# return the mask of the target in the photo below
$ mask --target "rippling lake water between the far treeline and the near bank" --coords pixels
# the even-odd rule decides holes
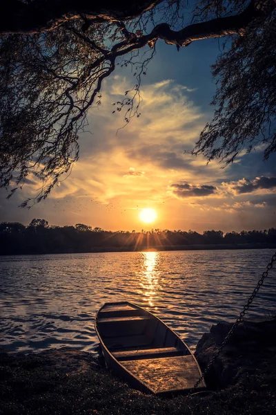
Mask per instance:
[[[195,349],[219,320],[234,321],[273,250],[112,252],[0,257],[0,347],[71,346],[97,353],[94,316],[130,300],[161,317]],[[275,311],[270,271],[248,316]]]

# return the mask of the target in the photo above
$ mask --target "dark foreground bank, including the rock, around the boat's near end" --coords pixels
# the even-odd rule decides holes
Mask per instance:
[[[232,324],[205,333],[195,355],[208,365]],[[0,414],[271,415],[276,412],[276,319],[242,322],[205,378],[207,391],[159,397],[128,387],[91,353],[70,347],[41,353],[0,350]]]

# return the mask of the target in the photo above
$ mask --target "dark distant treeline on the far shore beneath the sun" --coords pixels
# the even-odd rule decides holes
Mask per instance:
[[[206,230],[160,230],[111,232],[92,229],[83,223],[75,226],[50,226],[45,219],[33,219],[25,226],[17,222],[0,223],[0,254],[55,254],[71,252],[134,251],[149,248],[210,249],[272,247],[276,228],[227,232]]]

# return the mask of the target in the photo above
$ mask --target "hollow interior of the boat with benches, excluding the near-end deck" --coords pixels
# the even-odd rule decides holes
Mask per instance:
[[[184,343],[163,322],[128,302],[103,306],[97,316],[97,327],[117,360],[190,355]]]

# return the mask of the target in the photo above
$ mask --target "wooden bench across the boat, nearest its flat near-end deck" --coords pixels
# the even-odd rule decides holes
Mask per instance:
[[[185,351],[177,349],[177,347],[159,347],[158,349],[136,349],[115,351],[112,355],[117,360],[139,360],[168,358],[174,356],[184,356]]]

